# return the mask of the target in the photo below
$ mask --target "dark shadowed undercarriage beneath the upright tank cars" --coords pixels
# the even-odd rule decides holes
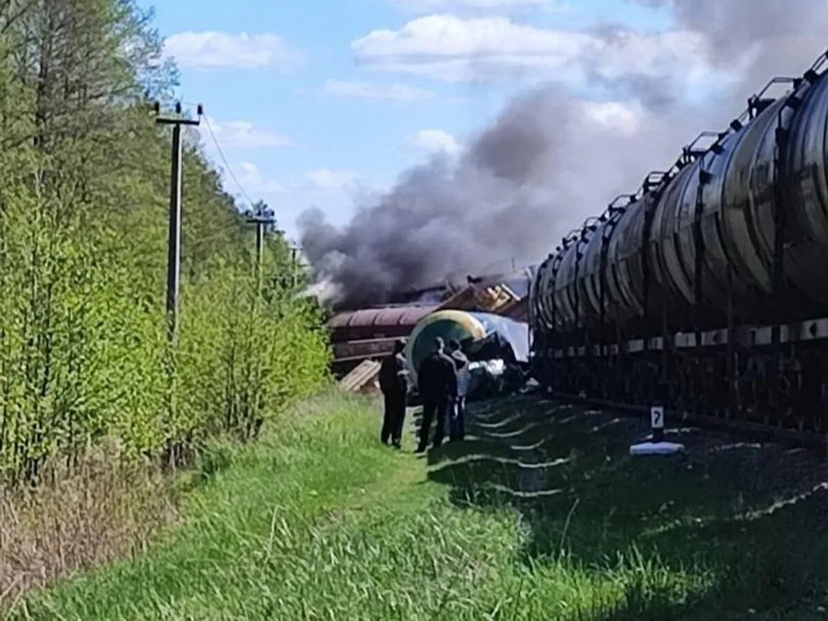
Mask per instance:
[[[580,347],[535,338],[535,376],[556,394],[658,404],[681,418],[798,431],[809,440],[828,434],[828,318]]]

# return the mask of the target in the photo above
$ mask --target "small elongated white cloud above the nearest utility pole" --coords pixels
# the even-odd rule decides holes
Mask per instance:
[[[287,69],[301,60],[301,54],[280,36],[229,32],[181,32],[164,43],[166,54],[181,67]]]

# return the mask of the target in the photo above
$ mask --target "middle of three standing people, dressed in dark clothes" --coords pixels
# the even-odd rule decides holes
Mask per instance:
[[[455,363],[444,353],[445,343],[438,336],[434,342],[434,351],[422,361],[417,379],[422,397],[422,424],[420,427],[420,444],[417,453],[422,453],[428,446],[431,421],[437,417],[434,431],[434,448],[443,443],[445,436],[445,414],[452,397],[457,393],[457,369]]]

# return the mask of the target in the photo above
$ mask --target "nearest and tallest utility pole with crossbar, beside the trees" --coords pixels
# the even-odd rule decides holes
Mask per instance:
[[[173,343],[178,334],[178,291],[181,286],[181,126],[199,125],[204,108],[199,103],[198,118],[181,116],[181,103],[176,103],[174,117],[161,117],[161,104],[156,102],[156,123],[172,125],[172,166],[170,173],[170,235],[167,242],[166,316],[167,337]]]

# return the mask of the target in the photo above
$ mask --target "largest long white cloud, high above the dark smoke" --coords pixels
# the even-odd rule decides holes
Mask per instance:
[[[527,26],[508,17],[430,15],[396,31],[372,31],[351,47],[368,68],[453,82],[713,77],[705,37],[686,31],[599,34]]]

